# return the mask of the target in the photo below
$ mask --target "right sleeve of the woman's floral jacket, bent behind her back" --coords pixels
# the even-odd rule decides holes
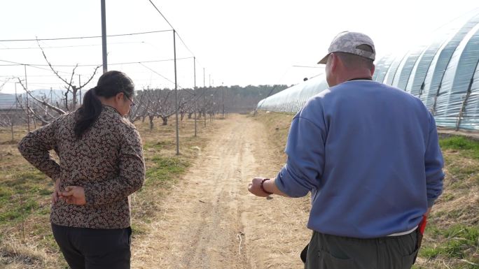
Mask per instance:
[[[118,177],[84,186],[88,205],[120,201],[141,188],[145,178],[143,147],[137,129],[127,128],[120,136]]]

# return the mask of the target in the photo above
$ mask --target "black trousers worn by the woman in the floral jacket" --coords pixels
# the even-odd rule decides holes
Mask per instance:
[[[132,229],[58,226],[52,231],[71,269],[130,269]]]

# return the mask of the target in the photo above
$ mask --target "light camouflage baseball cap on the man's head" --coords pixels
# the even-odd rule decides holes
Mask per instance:
[[[361,50],[359,45],[368,45],[373,49],[373,52],[367,50]],[[376,56],[376,50],[374,48],[373,40],[366,36],[366,34],[358,33],[354,31],[343,31],[333,39],[331,45],[328,48],[328,54],[318,62],[318,64],[326,64],[329,54],[333,52],[347,52],[356,54],[361,57],[372,59],[374,61]]]

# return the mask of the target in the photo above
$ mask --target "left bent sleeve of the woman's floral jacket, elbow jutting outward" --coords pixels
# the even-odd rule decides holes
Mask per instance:
[[[20,154],[53,181],[60,177],[60,165],[53,159],[50,150],[57,147],[56,133],[61,119],[29,132],[18,143]]]

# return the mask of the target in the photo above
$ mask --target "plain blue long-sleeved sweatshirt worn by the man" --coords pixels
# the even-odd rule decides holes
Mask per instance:
[[[312,191],[308,228],[377,238],[410,231],[443,189],[436,122],[407,92],[370,80],[313,96],[293,118],[276,178],[291,197]]]

